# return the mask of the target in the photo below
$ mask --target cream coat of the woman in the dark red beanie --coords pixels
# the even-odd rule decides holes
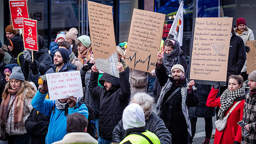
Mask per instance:
[[[237,32],[237,27],[234,30],[235,30],[236,35],[240,36],[243,39],[245,46],[247,44],[247,41],[254,41],[254,35],[252,33],[252,30],[249,29],[248,27],[246,27],[246,29],[240,35]],[[247,61],[245,60],[244,67],[243,67],[241,72],[246,72],[247,71],[246,66],[247,66]]]

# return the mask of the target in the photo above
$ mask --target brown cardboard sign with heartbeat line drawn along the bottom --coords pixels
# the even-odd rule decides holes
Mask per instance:
[[[125,62],[130,68],[151,72],[160,49],[165,14],[133,9]]]

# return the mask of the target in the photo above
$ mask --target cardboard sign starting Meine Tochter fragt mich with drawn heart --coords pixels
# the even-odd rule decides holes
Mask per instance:
[[[188,79],[226,85],[233,18],[196,18],[193,23]]]

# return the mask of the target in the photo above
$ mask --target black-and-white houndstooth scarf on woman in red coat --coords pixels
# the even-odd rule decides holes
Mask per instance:
[[[241,87],[236,91],[229,91],[229,89],[227,88],[222,95],[220,96],[220,110],[218,113],[218,117],[220,120],[222,120],[224,113],[226,110],[228,110],[230,108],[230,106],[234,103],[234,101],[237,98],[243,97],[245,96],[245,87]]]

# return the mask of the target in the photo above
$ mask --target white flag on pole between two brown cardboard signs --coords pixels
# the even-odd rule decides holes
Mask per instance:
[[[172,22],[172,26],[169,31],[169,34],[174,36],[173,39],[177,40],[180,43],[180,46],[182,46],[183,38],[183,5],[184,2],[181,1],[175,19]]]

